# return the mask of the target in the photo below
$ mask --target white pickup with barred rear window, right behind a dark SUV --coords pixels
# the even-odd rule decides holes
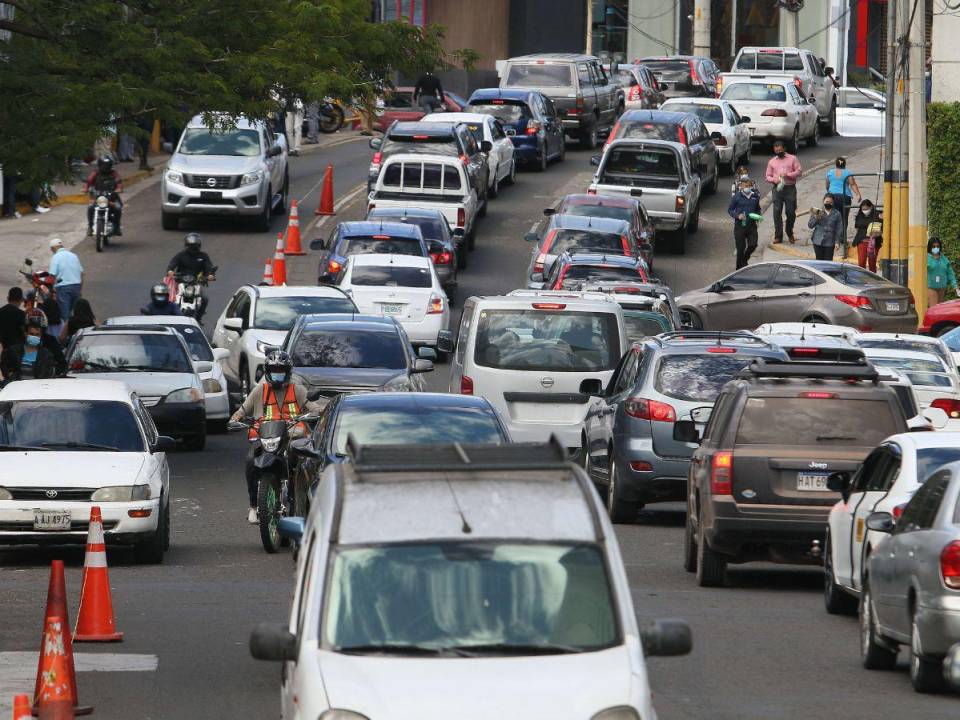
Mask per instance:
[[[404,153],[391,155],[370,193],[367,212],[374,208],[433,208],[463,235],[468,250],[476,245],[480,198],[460,158]]]

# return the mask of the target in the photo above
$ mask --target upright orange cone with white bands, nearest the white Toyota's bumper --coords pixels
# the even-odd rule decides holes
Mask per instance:
[[[87,531],[87,554],[83,559],[83,586],[80,589],[80,610],[73,630],[74,642],[116,642],[123,640],[113,620],[110,578],[107,574],[107,548],[103,542],[103,519],[100,508],[90,508],[90,529]]]

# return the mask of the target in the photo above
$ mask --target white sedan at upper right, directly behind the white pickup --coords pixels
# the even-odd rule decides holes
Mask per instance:
[[[817,106],[807,102],[792,82],[744,75],[727,83],[720,99],[750,118],[747,126],[754,140],[783,140],[792,153],[801,140],[811,147],[820,142]]]

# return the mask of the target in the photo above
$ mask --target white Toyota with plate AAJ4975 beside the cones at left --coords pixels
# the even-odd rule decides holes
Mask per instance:
[[[107,543],[161,562],[172,447],[126,383],[10,383],[0,390],[0,544],[82,544],[96,505]]]

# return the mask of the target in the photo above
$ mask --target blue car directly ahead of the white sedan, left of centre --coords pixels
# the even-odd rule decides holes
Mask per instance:
[[[321,285],[336,282],[350,255],[430,255],[418,225],[366,220],[338,223],[328,238],[312,240],[310,249],[322,251],[317,268]]]

